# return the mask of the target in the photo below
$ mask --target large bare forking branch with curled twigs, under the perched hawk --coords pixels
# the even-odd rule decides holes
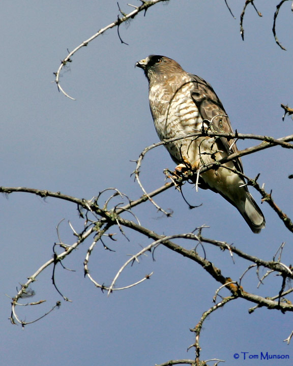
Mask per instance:
[[[265,148],[271,148],[273,146],[281,146],[283,148],[292,148],[293,144],[291,141],[293,141],[293,135],[285,136],[282,138],[273,138],[268,136],[258,136],[258,135],[248,135],[248,134],[224,134],[224,133],[212,133],[209,131],[203,131],[194,133],[192,135],[187,135],[185,137],[180,138],[190,138],[191,136],[194,136],[195,138],[197,136],[200,136],[200,134],[204,133],[206,136],[214,136],[214,137],[226,137],[230,139],[254,139],[261,141],[260,144],[246,148],[244,150],[239,151],[238,153],[231,154],[225,159],[221,159],[220,161],[215,161],[214,164],[210,164],[209,166],[205,166],[202,168],[203,171],[207,171],[208,169],[212,169],[216,165],[224,166],[223,163],[228,160],[236,159],[240,156],[245,156],[251,153],[254,153],[256,151],[265,149]],[[179,138],[177,138],[179,139]],[[157,144],[153,144],[147,148],[145,148],[141,155],[139,156],[138,160],[136,161],[136,169],[135,169],[135,176],[136,179],[138,178],[139,171],[141,168],[142,160],[144,159],[145,155],[150,151],[151,149],[158,147],[160,145],[167,144],[171,141],[174,141],[175,139],[165,140],[162,142],[159,142]],[[189,172],[191,175],[194,172]],[[262,195],[263,201],[266,201],[269,203],[269,205],[277,212],[279,218],[282,219],[282,221],[285,223],[286,227],[293,232],[293,225],[291,220],[283,213],[283,211],[275,204],[274,200],[272,199],[271,193],[267,193],[263,188],[261,188],[257,183],[257,178],[251,179],[247,176],[245,176],[241,172],[237,172],[240,174],[244,179],[246,179],[247,184],[252,185],[260,194]],[[34,290],[31,290],[31,286],[33,285],[33,282],[36,281],[37,277],[44,271],[45,268],[52,266],[52,282],[53,285],[56,288],[56,291],[62,295],[63,299],[65,301],[70,301],[65,295],[61,293],[61,291],[58,289],[55,281],[55,275],[54,270],[55,267],[58,264],[61,264],[64,269],[66,269],[64,262],[66,258],[75,251],[78,246],[84,242],[86,239],[89,239],[91,236],[93,236],[92,243],[87,250],[87,253],[84,258],[84,276],[89,278],[90,281],[94,283],[94,285],[97,288],[100,288],[102,291],[106,291],[108,294],[110,294],[112,291],[116,290],[123,290],[128,289],[133,286],[136,286],[138,284],[141,284],[145,280],[149,280],[153,274],[153,272],[149,273],[148,275],[145,275],[141,279],[135,281],[134,283],[122,287],[116,287],[116,283],[118,282],[121,273],[124,271],[124,269],[129,265],[133,264],[134,262],[139,263],[139,258],[142,255],[145,255],[147,252],[150,252],[154,254],[154,250],[158,248],[159,246],[165,246],[166,248],[172,250],[175,253],[178,253],[181,256],[184,256],[186,258],[189,258],[190,260],[196,262],[198,265],[201,266],[201,268],[207,272],[216,282],[220,284],[220,287],[216,291],[216,295],[214,296],[214,302],[216,302],[216,299],[218,296],[220,296],[221,300],[215,305],[204,312],[202,314],[202,317],[197,324],[197,326],[193,329],[196,333],[196,339],[194,343],[195,347],[195,360],[174,360],[171,364],[180,364],[181,363],[190,363],[190,364],[206,364],[205,362],[208,361],[200,361],[200,345],[199,345],[199,337],[200,337],[200,331],[202,329],[203,322],[207,319],[208,315],[217,310],[218,308],[225,305],[226,302],[230,300],[235,300],[237,298],[242,298],[245,300],[248,300],[249,302],[253,302],[255,304],[254,308],[251,308],[249,312],[253,312],[257,308],[265,307],[270,310],[278,310],[282,313],[285,313],[287,311],[292,312],[293,311],[293,304],[284,296],[289,295],[293,290],[285,290],[285,282],[287,279],[293,278],[293,273],[291,270],[290,264],[285,264],[281,261],[281,255],[283,250],[283,244],[281,246],[281,249],[278,250],[279,255],[277,260],[275,260],[275,257],[277,255],[274,254],[272,260],[266,261],[261,258],[252,256],[248,253],[245,253],[239,249],[237,249],[234,245],[231,245],[224,241],[219,241],[215,239],[210,239],[207,237],[204,237],[202,235],[203,227],[195,229],[193,232],[185,233],[185,234],[177,234],[177,235],[161,235],[159,233],[154,232],[153,230],[141,226],[138,218],[132,212],[132,209],[143,202],[146,202],[148,200],[152,201],[152,198],[159,195],[163,191],[169,189],[170,187],[174,186],[180,186],[181,184],[184,184],[184,182],[188,181],[191,175],[188,175],[186,177],[174,177],[171,179],[171,181],[166,182],[162,187],[147,193],[146,190],[143,189],[143,195],[135,200],[132,200],[127,195],[121,193],[119,190],[115,188],[109,188],[106,189],[98,194],[97,197],[93,197],[90,200],[86,199],[80,199],[73,196],[69,196],[66,194],[62,194],[61,192],[50,192],[46,190],[38,190],[38,189],[32,189],[32,188],[24,188],[24,187],[0,187],[0,192],[5,194],[11,194],[13,192],[26,192],[30,194],[34,194],[43,198],[46,197],[52,197],[57,199],[62,199],[69,201],[71,203],[74,203],[78,207],[78,212],[81,218],[85,219],[83,230],[81,232],[78,232],[71,224],[70,227],[72,229],[74,237],[76,237],[76,240],[68,245],[62,240],[59,226],[57,225],[57,237],[58,242],[54,244],[53,249],[53,258],[49,259],[46,263],[44,263],[32,276],[28,278],[28,280],[21,285],[20,290],[18,290],[17,294],[12,298],[12,310],[11,310],[11,316],[10,320],[13,324],[21,324],[22,327],[24,327],[27,324],[34,323],[35,321],[43,318],[44,316],[51,313],[56,307],[59,307],[61,304],[61,301],[57,301],[53,307],[45,314],[33,321],[24,321],[22,320],[19,315],[17,314],[16,308],[18,306],[32,306],[36,304],[41,304],[45,300],[39,300],[34,302],[27,302],[25,304],[21,303],[21,300],[27,299],[30,297],[30,294],[34,293]],[[140,186],[142,187],[141,183]],[[102,196],[108,194],[107,198],[105,199],[104,203],[102,203]],[[126,200],[125,204],[119,203],[114,204],[114,200],[116,197],[119,197],[119,199]],[[161,209],[161,211],[164,211]],[[126,213],[133,214],[134,219],[137,221],[131,221],[124,217],[124,214]],[[136,254],[133,254],[130,256],[130,258],[125,261],[125,263],[122,265],[122,267],[116,272],[116,275],[113,277],[113,280],[111,281],[111,284],[106,286],[103,281],[97,281],[94,276],[90,273],[89,269],[89,262],[91,254],[94,250],[99,250],[97,248],[97,244],[100,242],[102,243],[103,250],[109,250],[111,252],[115,252],[110,249],[111,246],[105,243],[105,240],[117,240],[115,234],[110,232],[113,228],[116,228],[122,235],[125,235],[124,228],[129,228],[133,232],[137,232],[138,234],[151,238],[153,241],[148,246],[143,247],[139,252]],[[188,250],[183,248],[181,245],[178,245],[175,241],[176,240],[192,240],[196,243],[195,249]],[[197,252],[197,246],[200,245],[203,249],[204,256],[200,256]],[[206,251],[204,250],[204,246],[211,245],[216,247],[221,252],[225,252],[228,250],[229,256],[232,257],[233,263],[235,263],[235,260],[233,259],[233,255],[238,256],[240,258],[243,258],[247,260],[249,263],[253,263],[248,268],[256,269],[256,279],[259,283],[263,284],[263,281],[265,281],[266,278],[268,278],[268,275],[270,273],[275,273],[277,275],[280,275],[280,278],[282,279],[280,283],[280,287],[278,289],[277,294],[274,293],[274,295],[269,296],[259,296],[251,292],[248,288],[246,288],[244,284],[244,278],[246,276],[247,271],[243,273],[243,275],[240,277],[239,280],[232,279],[228,273],[222,273],[222,270],[215,265],[215,263],[209,261],[208,258],[206,258]],[[56,252],[57,247],[62,248],[62,252],[58,254]],[[99,247],[101,248],[101,247]],[[259,278],[259,268],[267,269],[267,275],[263,276],[262,279]],[[267,281],[267,280],[266,280]],[[222,297],[219,293],[222,291],[228,291],[229,296]],[[290,337],[288,337],[290,339]],[[287,339],[287,340],[288,340]],[[287,341],[289,342],[289,341]],[[218,360],[220,361],[220,360]],[[171,362],[171,361],[170,361]]]

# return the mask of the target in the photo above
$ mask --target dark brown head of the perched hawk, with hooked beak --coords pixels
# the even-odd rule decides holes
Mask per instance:
[[[149,81],[160,74],[167,75],[168,73],[183,71],[181,66],[172,58],[161,55],[150,55],[138,61],[135,66],[144,71]]]

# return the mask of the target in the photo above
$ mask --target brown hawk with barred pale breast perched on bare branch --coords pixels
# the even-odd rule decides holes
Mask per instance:
[[[240,158],[200,173],[208,164],[237,153],[235,140],[204,135],[233,133],[229,117],[212,86],[201,77],[190,74],[172,58],[149,55],[135,64],[149,81],[149,103],[157,134],[161,141],[179,138],[165,144],[175,171],[189,169],[202,189],[219,193],[235,206],[250,229],[259,233],[266,221],[248,191]],[[181,136],[202,132],[196,137]],[[195,178],[192,179],[195,183]]]

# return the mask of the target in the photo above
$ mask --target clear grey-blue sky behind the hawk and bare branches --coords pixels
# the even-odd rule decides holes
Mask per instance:
[[[257,2],[261,18],[252,6],[247,8],[244,42],[239,33],[244,2],[237,3],[230,2],[237,19],[229,14],[224,1],[159,4],[145,17],[140,14],[120,26],[128,46],[121,44],[116,28],[107,31],[76,53],[64,69],[61,83],[76,98],[72,101],[58,93],[53,72],[67,49],[116,19],[116,1],[3,2],[1,186],[61,191],[86,199],[115,187],[132,199],[138,198],[141,190],[130,177],[135,168],[131,160],[158,137],[149,111],[147,79],[134,64],[151,53],[174,58],[186,71],[210,82],[232,127],[239,132],[276,138],[291,134],[292,120],[286,117],[282,121],[280,108],[280,103],[293,106],[290,4],[283,5],[277,20],[279,40],[287,48],[283,51],[271,30],[274,2]],[[120,6],[131,11],[126,2]],[[251,141],[238,143],[239,148],[250,145]],[[243,165],[247,175],[261,174],[259,182],[268,192],[273,190],[276,203],[292,218],[292,181],[287,178],[293,173],[291,151],[280,147],[260,151],[244,157]],[[174,168],[164,147],[145,157],[141,180],[148,191],[164,184],[164,168]],[[251,192],[260,203],[259,194]],[[204,232],[207,237],[226,240],[266,260],[272,259],[285,241],[282,260],[291,263],[291,235],[266,203],[261,205],[266,229],[255,235],[219,195],[203,190],[196,193],[187,185],[184,193],[192,204],[202,206],[189,210],[181,195],[170,189],[156,200],[163,208],[172,209],[173,217],[162,217],[147,203],[135,210],[141,224],[159,234],[190,232],[206,224],[210,226]],[[186,353],[194,342],[189,328],[213,306],[219,284],[195,263],[163,247],[155,251],[155,261],[149,255],[139,265],[127,268],[118,285],[128,285],[154,271],[151,280],[107,297],[83,278],[82,263],[91,240],[83,243],[64,263],[76,271],[57,270],[58,286],[73,302],[63,301],[60,309],[24,330],[11,325],[10,300],[5,294],[14,296],[19,283],[51,258],[57,241],[55,228],[62,219],[60,234],[69,244],[75,238],[68,220],[77,230],[83,222],[76,206],[68,202],[24,193],[2,195],[0,201],[0,352],[4,364],[147,366],[194,357],[193,350]],[[101,283],[109,284],[127,255],[150,243],[130,231],[127,235],[130,242],[120,234],[118,241],[107,242],[115,253],[105,252],[99,245],[91,256],[91,275]],[[194,246],[181,243],[189,249]],[[226,252],[208,245],[205,249],[224,276],[237,280],[248,266],[239,258],[233,264]],[[281,278],[273,276],[257,289],[258,280],[251,270],[244,285],[256,294],[275,295]],[[33,286],[34,301],[47,301],[39,308],[19,309],[22,319],[30,321],[42,315],[61,299],[50,279],[51,268]],[[201,334],[202,359],[220,358],[237,364],[233,354],[242,351],[293,357],[292,346],[282,342],[292,330],[291,315],[267,309],[249,315],[251,306],[239,299],[210,316]]]

